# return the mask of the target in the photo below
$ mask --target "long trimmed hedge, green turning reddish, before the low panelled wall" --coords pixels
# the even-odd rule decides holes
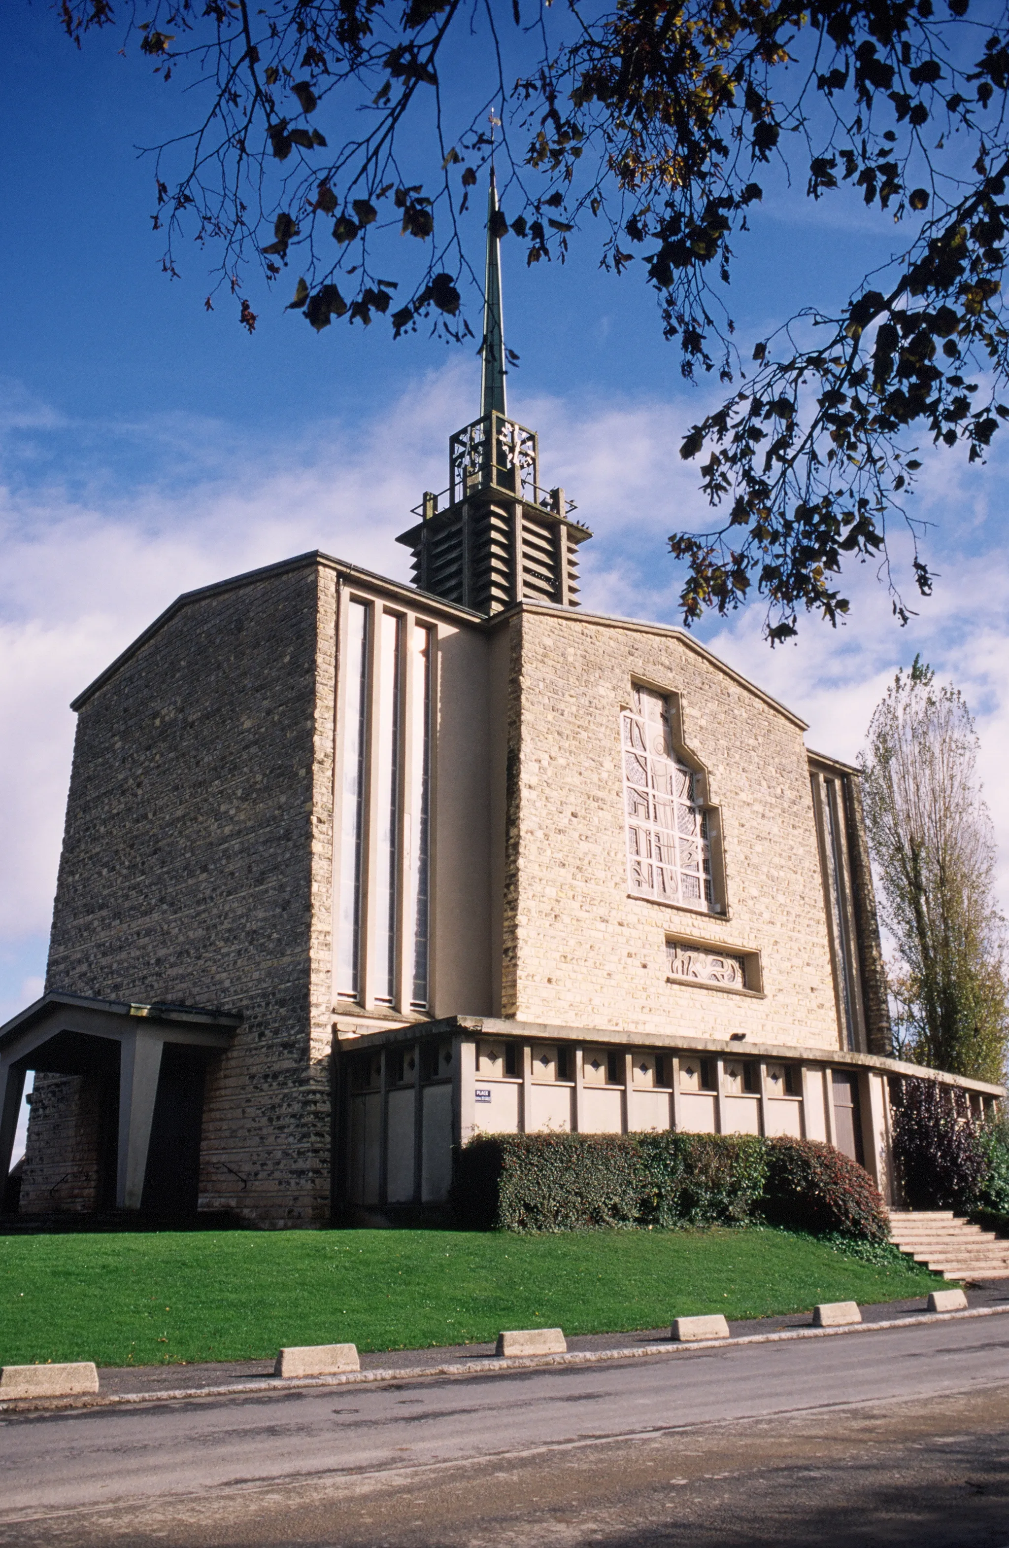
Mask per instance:
[[[453,1214],[467,1229],[772,1220],[885,1241],[885,1204],[867,1172],[812,1139],[751,1135],[481,1135],[455,1152]]]

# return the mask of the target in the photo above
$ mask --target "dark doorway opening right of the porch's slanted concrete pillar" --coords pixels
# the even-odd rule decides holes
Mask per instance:
[[[204,1074],[198,1054],[164,1045],[141,1209],[164,1215],[197,1212]]]

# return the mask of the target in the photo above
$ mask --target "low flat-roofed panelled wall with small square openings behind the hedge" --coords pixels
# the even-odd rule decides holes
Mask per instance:
[[[935,1074],[870,1054],[816,1059],[803,1048],[737,1051],[619,1033],[590,1040],[573,1028],[461,1020],[470,1019],[344,1043],[342,1198],[351,1212],[444,1204],[452,1147],[477,1135],[662,1130],[825,1141],[891,1201],[890,1081]],[[938,1079],[966,1088],[978,1113],[1004,1096],[984,1082]]]

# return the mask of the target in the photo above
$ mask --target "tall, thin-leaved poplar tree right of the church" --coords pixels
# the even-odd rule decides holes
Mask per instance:
[[[898,1046],[915,1063],[1001,1081],[1009,1036],[995,839],[959,689],[916,656],[876,706],[862,754],[865,820],[896,961]]]

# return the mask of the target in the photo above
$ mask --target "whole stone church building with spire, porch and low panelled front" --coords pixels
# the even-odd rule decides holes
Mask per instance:
[[[45,994],[0,1028],[23,1214],[418,1220],[453,1146],[545,1128],[805,1135],[891,1192],[921,1070],[857,769],[689,633],[579,607],[497,248],[413,585],[308,553],[189,591],[74,701]]]

